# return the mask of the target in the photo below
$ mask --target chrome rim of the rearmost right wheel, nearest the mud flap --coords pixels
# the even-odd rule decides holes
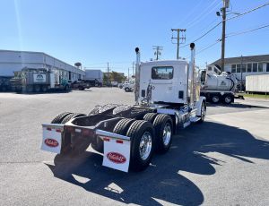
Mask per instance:
[[[152,133],[143,133],[139,143],[139,154],[140,158],[145,160],[148,159],[152,151]]]

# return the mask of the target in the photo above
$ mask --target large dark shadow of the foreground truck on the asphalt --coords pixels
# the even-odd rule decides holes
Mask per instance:
[[[269,159],[268,150],[268,142],[256,139],[245,130],[204,122],[182,130],[174,137],[169,152],[156,155],[151,167],[140,173],[126,174],[102,167],[102,156],[90,151],[77,158],[57,155],[55,166],[48,167],[57,178],[118,202],[161,205],[161,200],[200,205],[204,202],[204,194],[182,175],[184,172],[212,176],[216,173],[215,167],[225,166],[225,161],[213,159],[209,152],[254,164],[248,158]]]

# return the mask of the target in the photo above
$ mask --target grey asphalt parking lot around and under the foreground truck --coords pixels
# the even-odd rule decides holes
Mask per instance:
[[[91,148],[75,158],[39,149],[42,123],[107,103],[133,104],[134,94],[0,93],[0,205],[269,204],[269,101],[208,105],[204,124],[182,130],[141,173],[102,167]]]

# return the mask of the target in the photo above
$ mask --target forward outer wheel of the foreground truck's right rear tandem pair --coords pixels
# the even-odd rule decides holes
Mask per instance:
[[[153,127],[156,134],[156,151],[167,152],[172,143],[173,120],[171,116],[159,114],[153,122]]]

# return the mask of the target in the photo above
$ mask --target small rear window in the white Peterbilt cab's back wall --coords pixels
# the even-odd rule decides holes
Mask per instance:
[[[173,79],[174,68],[172,66],[152,67],[152,80],[170,80]]]

